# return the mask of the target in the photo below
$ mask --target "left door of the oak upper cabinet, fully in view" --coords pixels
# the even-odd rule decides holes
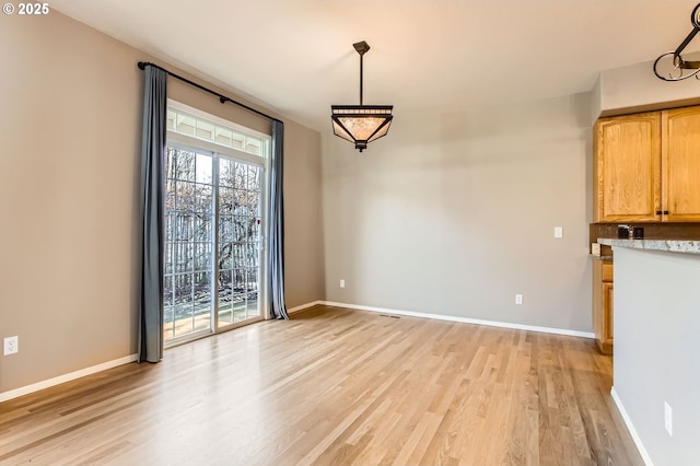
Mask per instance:
[[[660,220],[661,113],[600,118],[594,153],[595,221]]]

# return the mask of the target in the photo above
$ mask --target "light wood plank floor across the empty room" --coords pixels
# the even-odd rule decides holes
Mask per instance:
[[[0,404],[0,464],[641,465],[594,345],[318,306]]]

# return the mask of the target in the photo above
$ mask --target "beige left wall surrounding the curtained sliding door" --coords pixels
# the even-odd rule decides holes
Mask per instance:
[[[20,337],[20,353],[0,357],[2,394],[136,352],[136,63],[153,57],[57,11],[3,19],[0,43],[0,338]],[[269,131],[266,119],[171,84],[173,98]],[[298,271],[287,299],[296,306],[324,296],[320,137],[293,121],[285,133],[287,269]]]

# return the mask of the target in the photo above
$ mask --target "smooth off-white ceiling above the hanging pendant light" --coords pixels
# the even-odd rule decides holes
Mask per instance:
[[[697,1],[51,0],[51,8],[325,131],[331,104],[359,103],[355,42],[371,46],[365,104],[393,104],[397,119],[441,115],[587,92],[602,70],[675,49]]]

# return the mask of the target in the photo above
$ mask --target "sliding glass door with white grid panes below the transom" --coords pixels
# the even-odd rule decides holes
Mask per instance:
[[[261,318],[265,165],[168,142],[164,340]]]

